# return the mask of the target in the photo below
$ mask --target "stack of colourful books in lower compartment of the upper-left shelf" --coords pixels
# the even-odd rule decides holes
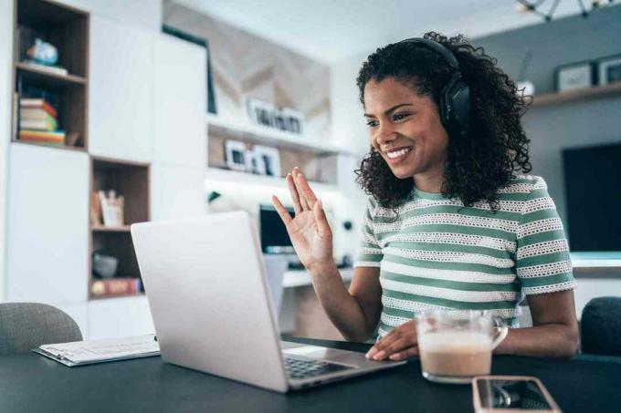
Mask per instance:
[[[19,139],[65,146],[65,132],[58,130],[58,112],[43,98],[19,100]]]

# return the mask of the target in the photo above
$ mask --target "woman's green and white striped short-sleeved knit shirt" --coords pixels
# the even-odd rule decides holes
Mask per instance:
[[[524,294],[575,288],[569,248],[545,181],[519,176],[487,201],[416,188],[395,213],[370,197],[354,266],[379,267],[379,336],[426,308],[492,310],[516,326]]]

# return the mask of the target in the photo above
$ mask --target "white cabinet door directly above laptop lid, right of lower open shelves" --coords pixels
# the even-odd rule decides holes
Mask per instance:
[[[151,177],[153,221],[205,213],[205,169],[153,163]]]

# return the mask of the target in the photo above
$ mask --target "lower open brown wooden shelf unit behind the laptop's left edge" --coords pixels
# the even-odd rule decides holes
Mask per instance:
[[[134,222],[149,221],[150,166],[147,163],[141,162],[93,157],[90,160],[90,171],[90,193],[93,191],[114,190],[125,198],[124,224],[122,226],[107,227],[91,222],[90,257],[95,252],[114,256],[119,260],[115,277],[140,278],[130,225]],[[111,295],[97,296],[91,292],[91,286],[95,278],[92,274],[90,257],[89,298],[110,298]],[[113,296],[128,296],[128,294]]]

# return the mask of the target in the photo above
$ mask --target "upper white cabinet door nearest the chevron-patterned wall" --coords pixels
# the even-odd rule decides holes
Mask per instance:
[[[206,165],[206,52],[160,35],[153,45],[153,160]]]

